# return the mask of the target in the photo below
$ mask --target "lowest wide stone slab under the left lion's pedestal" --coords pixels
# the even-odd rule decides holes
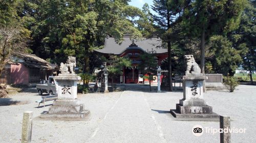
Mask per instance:
[[[80,112],[79,114],[50,114],[50,113],[43,113],[40,115],[40,118],[63,118],[63,119],[77,119],[77,118],[84,118],[86,117],[88,114],[90,114],[90,110],[84,110],[82,112]]]

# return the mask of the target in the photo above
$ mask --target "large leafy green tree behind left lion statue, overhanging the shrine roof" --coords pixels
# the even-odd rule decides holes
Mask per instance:
[[[127,2],[37,0],[24,4],[24,13],[34,17],[30,25],[33,50],[57,63],[75,56],[83,73],[90,73],[90,54],[102,47],[104,38],[113,36],[120,44],[124,34],[131,34],[132,38],[142,36],[129,19],[141,11]]]

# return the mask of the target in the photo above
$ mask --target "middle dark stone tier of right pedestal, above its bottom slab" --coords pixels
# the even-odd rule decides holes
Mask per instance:
[[[211,106],[181,106],[176,104],[176,110],[181,114],[212,114]]]

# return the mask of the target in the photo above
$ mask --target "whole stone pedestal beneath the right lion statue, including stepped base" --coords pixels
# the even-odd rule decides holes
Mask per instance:
[[[176,105],[176,110],[170,110],[175,117],[219,118],[203,99],[204,79],[205,77],[200,73],[183,76],[183,99]]]

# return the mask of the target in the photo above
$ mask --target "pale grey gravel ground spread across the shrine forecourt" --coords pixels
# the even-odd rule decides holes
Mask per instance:
[[[205,100],[214,112],[231,118],[231,142],[255,142],[256,86],[240,85],[236,91],[207,91]],[[194,136],[194,125],[219,128],[219,122],[175,121],[169,109],[183,98],[182,92],[123,91],[78,94],[91,111],[87,121],[42,121],[35,89],[0,99],[0,142],[20,142],[24,111],[33,111],[32,142],[219,142],[220,135]],[[48,105],[52,101],[47,102]]]

